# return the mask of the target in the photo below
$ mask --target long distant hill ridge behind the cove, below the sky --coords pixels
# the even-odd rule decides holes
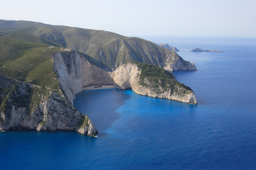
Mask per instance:
[[[196,70],[194,64],[186,62],[176,52],[141,38],[124,37],[104,30],[0,20],[0,33],[36,35],[38,39],[33,41],[81,52],[112,70],[130,61],[155,64],[169,71]]]

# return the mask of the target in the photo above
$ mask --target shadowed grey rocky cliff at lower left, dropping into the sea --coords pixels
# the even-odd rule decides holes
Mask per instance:
[[[0,130],[72,130],[96,135],[92,121],[61,94],[0,74]]]

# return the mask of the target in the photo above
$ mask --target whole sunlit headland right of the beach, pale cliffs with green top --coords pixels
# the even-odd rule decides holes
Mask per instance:
[[[136,94],[196,104],[193,91],[176,81],[173,74],[152,64],[127,63],[110,73],[117,89],[132,89]]]

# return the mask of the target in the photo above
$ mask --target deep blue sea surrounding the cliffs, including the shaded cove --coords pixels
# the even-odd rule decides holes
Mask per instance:
[[[256,169],[256,38],[143,37],[178,48],[198,105],[131,90],[82,91],[100,134],[0,132],[0,169]],[[193,48],[223,52],[191,52]]]

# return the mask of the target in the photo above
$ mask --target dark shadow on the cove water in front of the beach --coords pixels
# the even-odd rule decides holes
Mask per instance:
[[[106,135],[105,130],[120,117],[117,108],[129,98],[118,89],[85,90],[75,96],[74,105],[92,120],[100,135]]]

